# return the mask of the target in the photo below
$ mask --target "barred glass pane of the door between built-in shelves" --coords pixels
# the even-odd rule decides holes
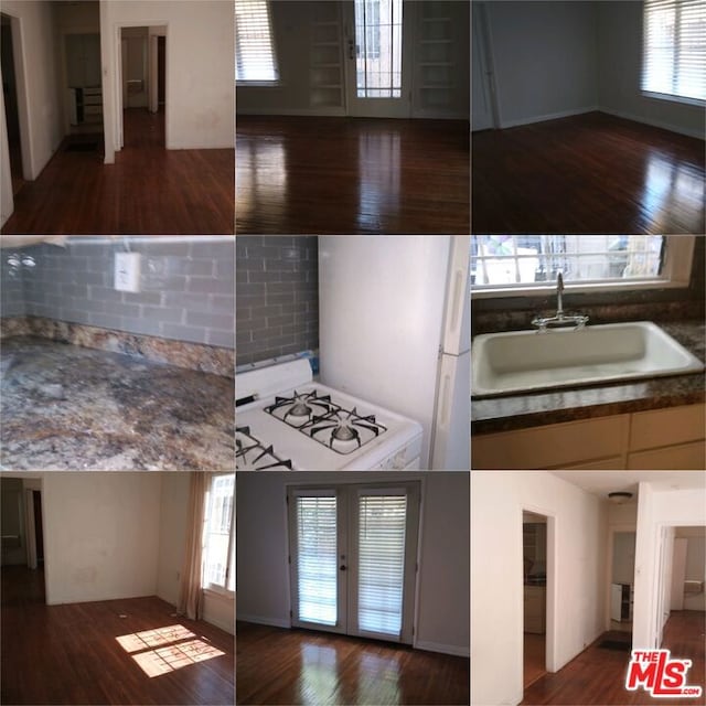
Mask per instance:
[[[402,0],[355,0],[359,98],[402,96]]]

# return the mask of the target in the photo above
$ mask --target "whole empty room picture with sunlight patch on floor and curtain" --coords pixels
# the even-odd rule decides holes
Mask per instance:
[[[234,481],[3,473],[2,703],[233,704]]]

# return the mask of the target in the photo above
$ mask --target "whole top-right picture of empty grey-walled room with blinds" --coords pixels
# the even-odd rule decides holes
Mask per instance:
[[[706,1],[473,2],[473,233],[704,233]]]

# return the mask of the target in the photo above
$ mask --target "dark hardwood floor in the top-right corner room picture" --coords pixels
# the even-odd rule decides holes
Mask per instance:
[[[704,141],[601,113],[474,132],[472,232],[704,233]]]

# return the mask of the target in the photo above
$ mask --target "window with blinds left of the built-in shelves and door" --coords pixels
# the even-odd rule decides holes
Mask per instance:
[[[256,84],[279,79],[266,0],[235,0],[235,78]]]

